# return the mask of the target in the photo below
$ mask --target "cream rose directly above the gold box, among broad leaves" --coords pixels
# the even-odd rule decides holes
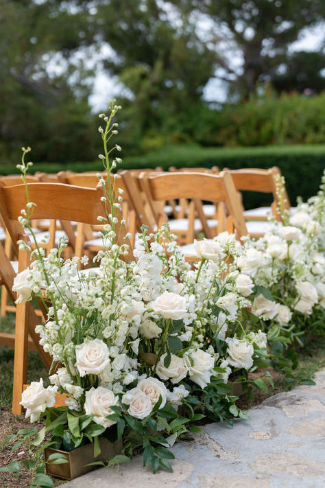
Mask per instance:
[[[84,402],[84,411],[87,415],[94,415],[94,422],[105,428],[117,423],[116,420],[106,419],[112,415],[114,410],[112,406],[119,404],[119,397],[116,397],[111,390],[98,386],[86,391],[86,400]]]

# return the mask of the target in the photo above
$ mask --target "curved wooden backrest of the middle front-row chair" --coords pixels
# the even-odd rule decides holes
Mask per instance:
[[[209,200],[226,205],[237,237],[247,234],[245,220],[230,175],[219,176],[202,172],[169,172],[157,175],[143,173],[139,179],[157,224],[160,224],[161,220],[155,206],[156,202],[178,198],[187,198],[194,202]]]

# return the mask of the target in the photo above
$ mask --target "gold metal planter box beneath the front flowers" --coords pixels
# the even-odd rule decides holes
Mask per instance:
[[[46,472],[51,476],[56,476],[56,478],[62,478],[64,480],[73,480],[82,474],[90,472],[92,469],[98,467],[86,466],[89,463],[94,463],[95,461],[105,461],[112,458],[115,454],[120,454],[123,449],[122,439],[117,439],[115,443],[108,441],[107,439],[101,439],[99,441],[99,446],[101,448],[101,453],[96,458],[94,457],[94,445],[86,444],[81,448],[77,448],[71,452],[62,451],[60,449],[45,449],[45,462],[46,462]],[[60,454],[65,454],[67,456],[68,463],[63,464],[53,464],[51,461],[47,462],[49,456],[55,452],[60,452]]]

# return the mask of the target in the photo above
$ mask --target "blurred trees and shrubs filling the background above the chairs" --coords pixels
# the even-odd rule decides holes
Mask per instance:
[[[36,162],[96,157],[99,70],[121,86],[119,143],[132,164],[165,153],[178,165],[173,146],[188,146],[183,165],[203,165],[209,146],[324,144],[324,46],[291,49],[324,22],[324,0],[2,0],[0,172],[23,145]],[[224,83],[224,103],[204,97],[210,80]]]

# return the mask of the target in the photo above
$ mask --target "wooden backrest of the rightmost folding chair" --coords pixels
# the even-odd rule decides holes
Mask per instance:
[[[271,167],[268,170],[259,170],[257,168],[246,168],[242,170],[224,170],[232,176],[234,186],[239,191],[261,191],[273,196],[272,213],[279,219],[276,208],[279,207],[280,201],[278,196],[278,187],[281,183],[281,172],[278,167]],[[290,209],[289,197],[287,191],[283,189],[283,207],[285,210]]]

